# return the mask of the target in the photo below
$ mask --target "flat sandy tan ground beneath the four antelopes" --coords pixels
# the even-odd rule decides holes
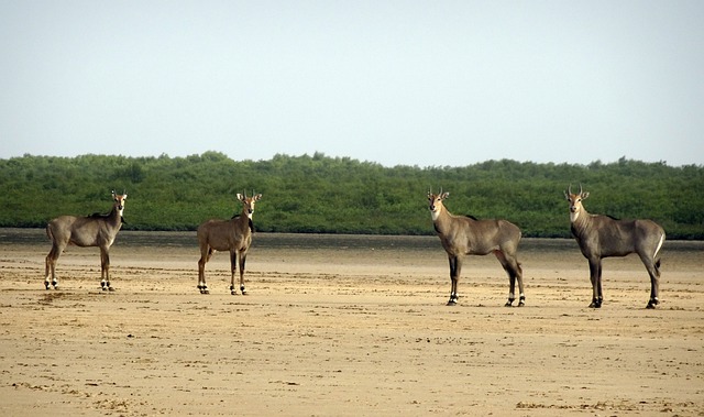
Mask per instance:
[[[637,257],[605,262],[605,301],[590,309],[576,245],[528,242],[527,305],[506,308],[503,270],[476,256],[447,307],[435,240],[255,235],[250,294],[232,296],[222,253],[198,293],[195,233],[122,232],[113,293],[99,289],[97,249],[72,248],[45,290],[42,233],[0,233],[0,415],[704,416],[704,245],[666,244],[661,304],[647,310]]]

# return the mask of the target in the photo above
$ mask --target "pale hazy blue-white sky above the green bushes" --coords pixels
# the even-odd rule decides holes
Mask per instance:
[[[0,0],[0,157],[704,164],[704,1]]]

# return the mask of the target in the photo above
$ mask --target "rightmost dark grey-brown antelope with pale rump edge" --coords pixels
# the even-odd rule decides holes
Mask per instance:
[[[651,220],[617,220],[608,216],[590,215],[582,201],[590,196],[582,190],[572,194],[572,186],[564,191],[570,201],[572,235],[576,239],[582,254],[590,263],[592,279],[592,304],[600,308],[604,300],[602,293],[602,259],[626,256],[637,253],[650,275],[650,300],[646,308],[658,305],[658,279],[660,278],[660,249],[664,242],[664,230]]]

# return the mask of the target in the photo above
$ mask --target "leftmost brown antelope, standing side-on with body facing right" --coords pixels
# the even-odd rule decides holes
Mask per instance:
[[[110,286],[110,256],[108,254],[114,238],[122,228],[122,212],[127,193],[117,195],[112,191],[112,211],[108,215],[95,213],[87,217],[61,216],[46,224],[46,235],[52,240],[52,250],[46,255],[46,277],[44,286],[58,288],[56,279],[56,261],[67,245],[98,246],[100,248],[100,287],[103,290],[112,290]]]

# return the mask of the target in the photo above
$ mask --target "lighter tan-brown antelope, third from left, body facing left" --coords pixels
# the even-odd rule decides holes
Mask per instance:
[[[462,271],[464,255],[487,255],[494,253],[508,274],[509,290],[506,307],[510,307],[516,299],[516,279],[520,290],[518,306],[526,304],[524,294],[524,277],[520,263],[516,257],[520,229],[506,220],[477,220],[473,217],[454,216],[442,204],[450,196],[449,193],[432,194],[428,191],[430,215],[440,237],[442,248],[450,261],[450,300],[448,306],[458,303],[458,282]]]

